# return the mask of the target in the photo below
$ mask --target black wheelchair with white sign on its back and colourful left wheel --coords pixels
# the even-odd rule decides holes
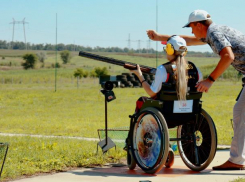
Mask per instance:
[[[210,115],[202,109],[202,93],[192,91],[186,97],[190,105],[178,110],[176,91],[162,89],[158,99],[147,99],[139,112],[129,116],[127,165],[138,165],[149,174],[174,163],[170,141],[176,141],[180,157],[193,171],[202,171],[212,162],[217,149],[217,133]],[[186,102],[182,101],[186,106]],[[176,109],[177,105],[177,109]],[[182,107],[182,106],[181,106]],[[177,111],[176,111],[177,110]],[[168,128],[177,127],[177,137],[169,138]]]

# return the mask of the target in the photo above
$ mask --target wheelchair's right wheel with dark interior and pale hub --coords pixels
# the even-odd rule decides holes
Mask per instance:
[[[207,112],[202,109],[199,121],[194,124],[178,126],[177,135],[184,139],[177,144],[186,166],[193,171],[208,167],[216,153],[217,134],[214,122]]]

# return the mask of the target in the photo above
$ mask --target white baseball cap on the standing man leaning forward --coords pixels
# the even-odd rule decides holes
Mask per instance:
[[[198,10],[193,11],[189,16],[188,23],[185,26],[183,26],[183,28],[189,27],[190,23],[192,22],[210,20],[211,18],[208,17],[208,15],[209,15],[208,12],[204,10],[198,9]]]

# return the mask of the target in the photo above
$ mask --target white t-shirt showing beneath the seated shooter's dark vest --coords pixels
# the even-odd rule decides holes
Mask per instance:
[[[172,67],[176,67],[176,65],[172,65]],[[198,71],[198,82],[203,79],[202,72],[197,68]],[[155,80],[151,84],[151,90],[154,93],[158,93],[162,88],[162,83],[166,82],[167,80],[167,71],[163,65],[157,67]]]

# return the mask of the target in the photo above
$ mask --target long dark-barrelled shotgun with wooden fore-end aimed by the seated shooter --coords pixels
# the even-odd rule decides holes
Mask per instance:
[[[122,60],[118,60],[118,59],[113,59],[113,58],[108,58],[105,56],[100,56],[100,55],[96,55],[96,54],[91,54],[88,52],[84,52],[84,51],[80,51],[79,52],[79,56],[82,57],[86,57],[86,58],[90,58],[90,59],[94,59],[94,60],[98,60],[98,61],[102,61],[102,62],[106,62],[106,63],[110,63],[110,64],[115,64],[118,66],[123,66],[126,69],[129,70],[135,70],[137,69],[135,63],[130,63],[127,61],[122,61]],[[152,68],[152,67],[148,67],[148,66],[144,66],[144,65],[139,65],[140,66],[140,70],[143,73],[147,73],[147,74],[156,74],[156,68]]]

